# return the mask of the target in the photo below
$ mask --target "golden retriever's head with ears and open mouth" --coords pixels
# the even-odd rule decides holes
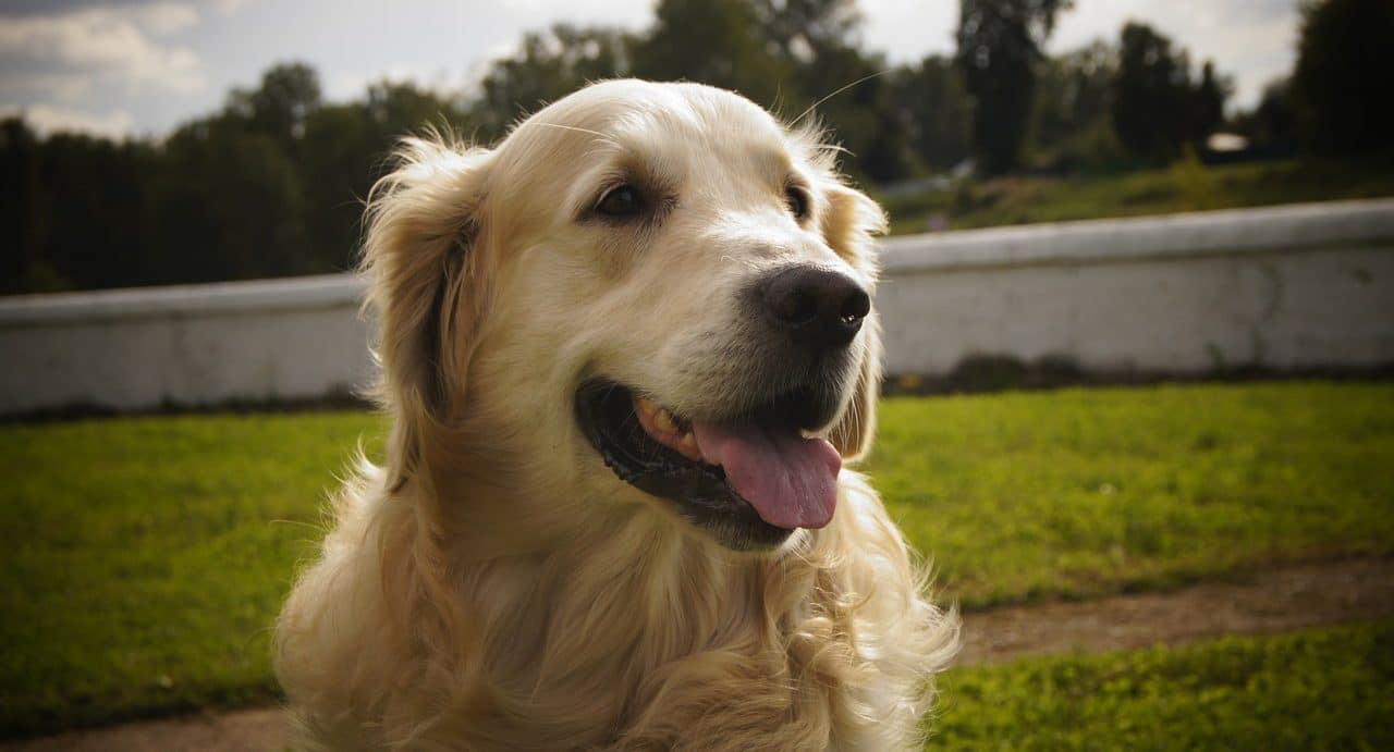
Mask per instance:
[[[598,84],[493,150],[408,142],[365,244],[390,478],[471,465],[733,549],[827,525],[873,429],[884,221],[814,132],[694,84]]]

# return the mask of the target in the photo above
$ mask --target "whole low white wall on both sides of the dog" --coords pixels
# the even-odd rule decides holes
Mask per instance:
[[[1394,365],[1394,199],[888,238],[892,375]],[[0,414],[315,400],[372,373],[350,276],[0,298]]]

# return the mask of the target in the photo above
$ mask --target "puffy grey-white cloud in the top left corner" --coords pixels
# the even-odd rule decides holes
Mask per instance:
[[[128,93],[199,91],[206,82],[198,56],[163,39],[198,18],[185,3],[0,17],[0,96],[38,86],[67,102],[96,85]]]

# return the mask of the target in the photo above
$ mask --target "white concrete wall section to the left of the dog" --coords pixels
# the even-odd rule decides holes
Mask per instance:
[[[0,298],[0,414],[344,394],[371,377],[350,276]]]

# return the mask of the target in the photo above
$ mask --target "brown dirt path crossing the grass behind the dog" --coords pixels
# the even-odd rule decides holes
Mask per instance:
[[[1179,645],[1390,614],[1394,614],[1394,560],[1302,564],[1259,572],[1243,583],[970,613],[963,617],[963,652],[958,663]],[[279,752],[287,745],[280,710],[256,709],[0,741],[0,752]]]

